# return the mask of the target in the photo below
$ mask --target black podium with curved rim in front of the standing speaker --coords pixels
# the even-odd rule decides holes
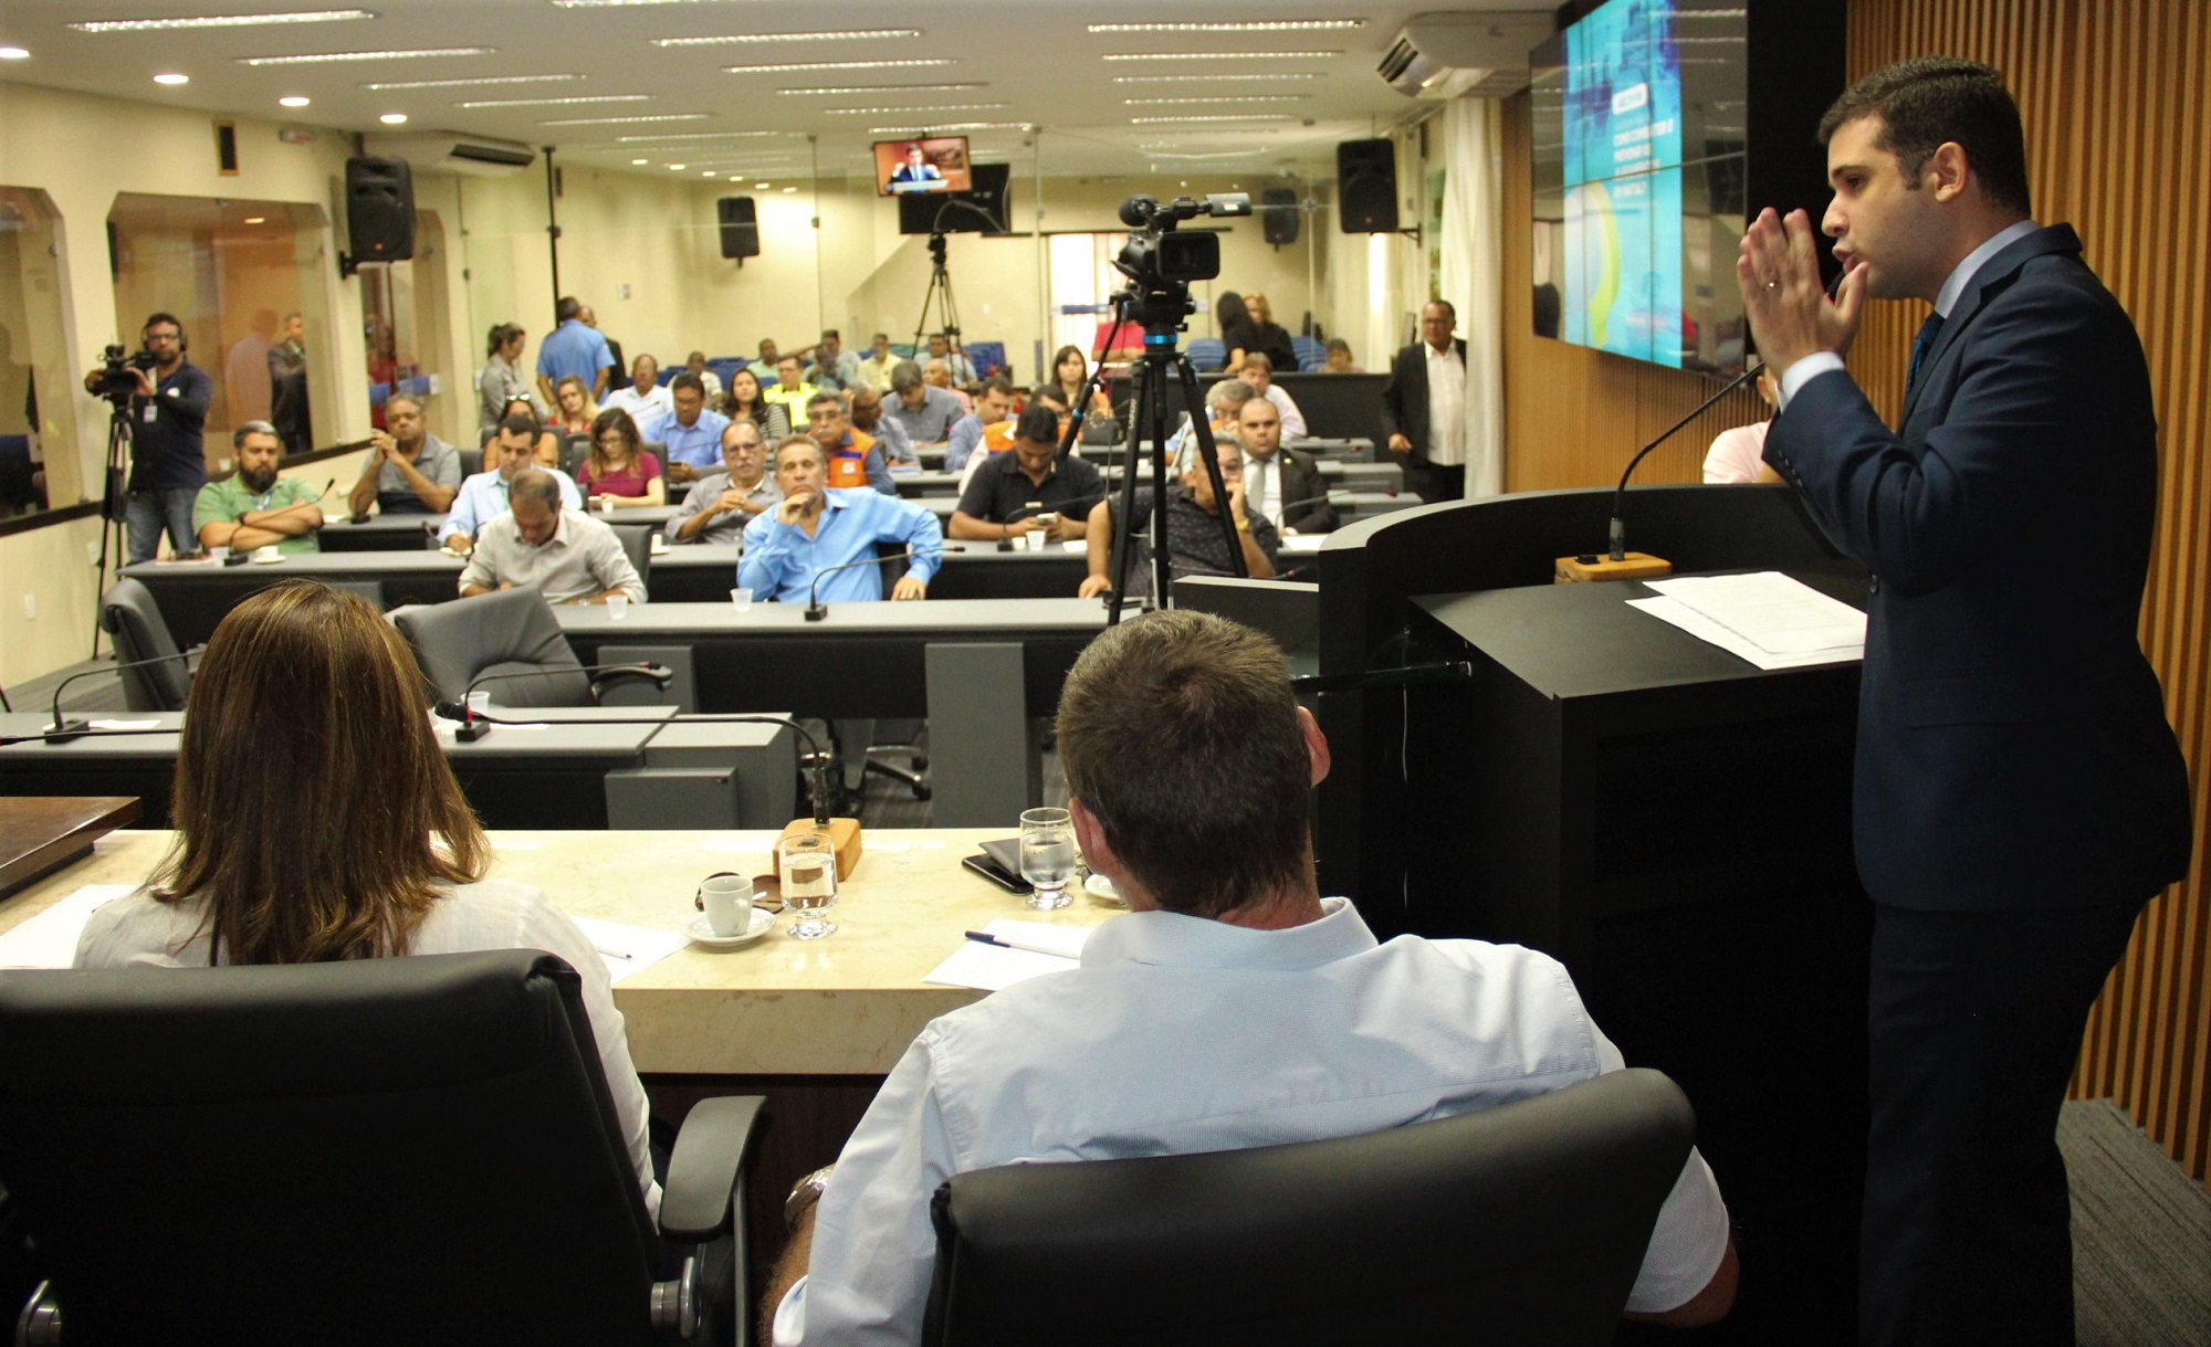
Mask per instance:
[[[1320,552],[1335,773],[1322,892],[1395,932],[1559,956],[1630,1064],[1698,1111],[1742,1243],[1740,1343],[1855,1340],[1871,908],[1851,859],[1855,662],[1760,671],[1552,583],[1610,490],[1406,510]],[[1786,488],[1627,492],[1676,574],[1782,570],[1864,607]],[[1380,671],[1464,662],[1455,682]],[[1623,1340],[1632,1338],[1623,1329]]]

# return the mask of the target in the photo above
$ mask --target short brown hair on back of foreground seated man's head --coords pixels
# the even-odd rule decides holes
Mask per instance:
[[[1068,795],[1170,912],[1304,881],[1311,755],[1282,651],[1194,609],[1108,627],[1059,693]]]

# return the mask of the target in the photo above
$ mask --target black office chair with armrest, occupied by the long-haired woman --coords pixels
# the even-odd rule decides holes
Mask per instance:
[[[761,1100],[692,1109],[654,1230],[579,987],[535,950],[0,974],[18,1340],[743,1343]]]

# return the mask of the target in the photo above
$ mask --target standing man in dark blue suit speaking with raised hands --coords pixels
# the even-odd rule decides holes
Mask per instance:
[[[1873,570],[1855,848],[1875,901],[1866,1343],[2072,1343],[2056,1113],[2142,903],[2187,872],[2180,746],[2136,643],[2156,420],[2134,325],[2030,219],[1997,71],[1924,57],[1822,121],[1846,278],[1762,212],[1738,280],[1782,375],[1764,459]],[[1842,369],[1928,300],[1899,431]]]

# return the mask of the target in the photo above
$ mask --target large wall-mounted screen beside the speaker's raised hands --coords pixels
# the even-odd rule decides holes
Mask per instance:
[[[1534,51],[1537,336],[1742,369],[1747,35],[1744,0],[1607,0]]]

